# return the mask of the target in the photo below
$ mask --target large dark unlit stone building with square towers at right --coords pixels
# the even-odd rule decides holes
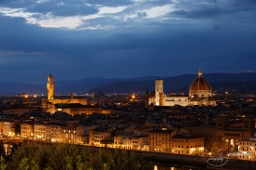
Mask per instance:
[[[241,124],[229,124],[229,117],[219,115],[216,118],[216,125],[201,125],[184,127],[191,134],[199,135],[205,139],[205,149],[218,151],[237,151],[240,139],[251,137],[255,133],[255,118],[241,117]]]

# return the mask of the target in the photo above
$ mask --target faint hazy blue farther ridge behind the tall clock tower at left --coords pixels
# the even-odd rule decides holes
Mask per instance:
[[[62,80],[54,82],[55,94],[66,94],[70,92],[84,93],[97,85],[108,85],[116,82],[131,82],[131,81],[145,81],[154,80],[160,77],[144,76],[135,78],[113,78],[107,79],[103,77],[91,77],[79,80]],[[161,77],[164,78],[164,77]],[[44,85],[33,85],[20,82],[0,82],[0,95],[15,95],[17,93],[28,94],[47,94],[47,82]]]

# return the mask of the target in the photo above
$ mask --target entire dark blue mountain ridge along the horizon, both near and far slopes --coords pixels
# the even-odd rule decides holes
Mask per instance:
[[[213,90],[256,90],[256,73],[206,73],[203,74],[210,83]],[[132,93],[154,91],[154,81],[164,80],[164,92],[188,92],[196,74],[182,74],[172,77],[144,76],[135,78],[113,78],[91,77],[79,80],[55,81],[55,94],[78,93]],[[47,82],[46,82],[47,83]],[[46,83],[44,85],[32,85],[17,82],[0,83],[0,95],[28,93],[47,94]]]

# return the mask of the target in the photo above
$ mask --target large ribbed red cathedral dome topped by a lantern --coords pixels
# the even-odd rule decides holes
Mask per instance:
[[[190,86],[189,96],[191,98],[212,97],[211,86],[203,77],[201,70],[199,70],[197,78],[192,82],[192,85]]]

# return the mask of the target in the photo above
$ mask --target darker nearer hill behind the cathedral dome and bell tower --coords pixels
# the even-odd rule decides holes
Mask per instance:
[[[255,90],[256,86],[253,85],[256,81],[256,73],[243,72],[243,73],[206,73],[203,74],[206,80],[212,85],[213,90],[241,90],[249,88]],[[197,77],[196,74],[183,74],[173,77],[165,77],[164,92],[184,92],[188,93],[189,86],[192,81]],[[155,80],[155,79],[154,79]],[[106,92],[106,93],[132,93],[132,92],[145,92],[146,88],[149,91],[154,91],[154,80],[135,81],[135,82],[117,82],[107,85],[99,85],[89,92]]]

